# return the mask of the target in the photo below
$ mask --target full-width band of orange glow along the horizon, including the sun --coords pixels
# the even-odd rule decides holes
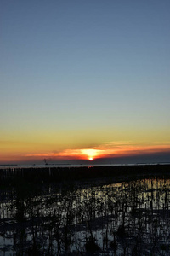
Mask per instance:
[[[170,144],[141,145],[132,142],[109,142],[95,148],[72,148],[48,152],[2,152],[1,162],[43,160],[95,160],[99,158],[117,158],[142,154],[170,152]]]

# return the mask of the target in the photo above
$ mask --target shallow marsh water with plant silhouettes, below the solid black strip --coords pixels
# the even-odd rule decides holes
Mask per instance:
[[[4,255],[169,255],[170,180],[1,189]]]

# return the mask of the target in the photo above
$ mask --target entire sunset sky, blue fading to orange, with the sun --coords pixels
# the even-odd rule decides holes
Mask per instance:
[[[0,164],[170,161],[169,12],[169,0],[2,0]]]

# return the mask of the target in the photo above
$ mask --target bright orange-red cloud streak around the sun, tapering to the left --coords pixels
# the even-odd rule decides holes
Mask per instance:
[[[26,154],[25,157],[52,158],[54,160],[86,160],[89,158],[99,159],[105,157],[122,157],[139,154],[154,154],[169,152],[170,145],[139,145],[133,142],[109,142],[95,148],[65,149],[57,153]]]

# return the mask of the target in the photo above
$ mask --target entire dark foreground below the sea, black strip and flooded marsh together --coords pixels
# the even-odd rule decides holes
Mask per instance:
[[[0,255],[170,255],[170,166],[0,170]]]

